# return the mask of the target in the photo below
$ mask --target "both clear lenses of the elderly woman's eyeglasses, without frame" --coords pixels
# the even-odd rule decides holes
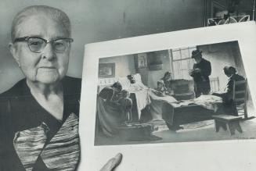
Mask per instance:
[[[27,40],[27,45],[32,52],[43,51],[46,44],[47,42],[40,37],[29,37],[29,39]],[[68,39],[58,39],[55,41],[51,41],[51,44],[54,52],[65,52],[70,44],[70,41],[68,41]]]

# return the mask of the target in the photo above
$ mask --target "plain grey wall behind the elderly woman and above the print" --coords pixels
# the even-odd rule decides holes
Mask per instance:
[[[50,5],[70,16],[74,43],[67,74],[73,77],[81,77],[85,44],[204,25],[204,0],[1,0],[0,92],[23,77],[8,43],[13,17],[29,5]]]

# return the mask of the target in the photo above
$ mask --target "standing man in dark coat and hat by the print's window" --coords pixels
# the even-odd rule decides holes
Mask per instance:
[[[211,85],[209,76],[211,75],[211,62],[203,59],[202,52],[195,50],[192,52],[192,57],[195,59],[193,70],[189,71],[189,75],[194,80],[194,91],[196,98],[201,94],[209,94],[211,91]]]

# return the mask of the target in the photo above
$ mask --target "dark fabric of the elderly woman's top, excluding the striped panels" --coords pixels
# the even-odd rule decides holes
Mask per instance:
[[[0,170],[25,170],[15,148],[13,138],[17,131],[27,130],[46,123],[50,131],[48,141],[56,134],[64,121],[74,112],[79,115],[81,79],[64,77],[63,121],[59,122],[38,104],[27,87],[26,80],[20,80],[9,91],[0,94]],[[33,170],[48,170],[39,157]]]

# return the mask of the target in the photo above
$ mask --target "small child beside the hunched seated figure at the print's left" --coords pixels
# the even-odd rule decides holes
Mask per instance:
[[[119,104],[121,105],[122,116],[124,116],[124,123],[132,122],[132,99],[129,98],[129,91],[122,90]]]

